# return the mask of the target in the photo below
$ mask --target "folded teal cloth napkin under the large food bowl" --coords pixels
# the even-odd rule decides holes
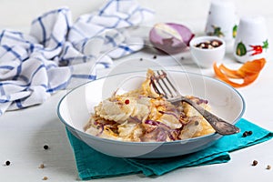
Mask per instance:
[[[257,126],[246,119],[240,119],[237,126],[241,132],[236,135],[223,136],[211,147],[181,157],[161,159],[128,159],[109,157],[97,152],[92,147],[73,136],[68,130],[71,147],[76,158],[76,167],[81,179],[118,177],[143,173],[145,176],[160,176],[178,167],[196,167],[226,163],[230,160],[228,152],[265,142],[273,133]],[[252,131],[251,136],[243,137],[245,131]]]

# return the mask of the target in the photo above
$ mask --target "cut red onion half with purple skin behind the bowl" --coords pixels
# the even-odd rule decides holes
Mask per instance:
[[[159,26],[167,27],[171,32],[167,32],[162,28],[159,29]],[[158,30],[160,30],[160,32],[165,32],[168,37],[159,35]],[[149,33],[149,40],[158,50],[167,54],[177,54],[187,49],[190,40],[194,36],[195,35],[185,25],[166,23],[154,25]]]

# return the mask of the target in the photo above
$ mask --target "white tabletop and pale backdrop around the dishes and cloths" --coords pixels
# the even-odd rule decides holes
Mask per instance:
[[[19,1],[18,1],[19,2]],[[18,3],[17,2],[17,3]],[[27,0],[30,2],[30,0]],[[76,3],[79,2],[79,3]],[[76,15],[86,13],[86,6],[96,9],[102,3],[99,1],[42,1],[34,5],[22,4],[22,22],[10,12],[15,11],[15,0],[0,0],[4,6],[0,9],[0,27],[27,27],[27,20],[38,12],[55,8],[57,5],[68,5]],[[139,1],[140,4],[154,8],[157,11],[156,22],[179,22],[188,25],[197,34],[202,34],[205,28],[209,1],[179,1],[164,0],[160,2]],[[86,4],[86,5],[85,5]],[[236,4],[238,14],[261,14],[268,21],[268,32],[273,37],[273,12],[270,1],[241,0]],[[31,7],[32,6],[32,7]],[[24,7],[24,8],[23,8]],[[197,11],[193,11],[196,8]],[[10,9],[10,11],[8,11]],[[29,10],[29,11],[27,11]],[[32,10],[32,11],[31,11]],[[82,10],[82,11],[81,11]],[[5,16],[9,15],[9,16]],[[30,21],[30,20],[29,20]],[[269,43],[270,44],[270,43]],[[271,45],[269,45],[271,47]],[[271,51],[272,52],[272,51]],[[141,53],[140,53],[141,54]],[[190,56],[185,55],[186,61],[191,62]],[[258,79],[250,86],[239,88],[238,91],[245,98],[247,108],[244,117],[253,123],[273,131],[273,62],[269,56],[268,62]],[[225,61],[227,66],[240,66],[227,51]],[[188,70],[196,71],[189,64]],[[200,71],[200,70],[198,70]],[[212,69],[201,70],[204,75],[213,76]],[[48,181],[78,181],[74,154],[66,137],[65,126],[56,116],[56,106],[59,99],[66,94],[60,91],[51,96],[43,105],[32,106],[18,111],[6,112],[0,116],[0,181],[41,181],[48,177]],[[49,149],[45,150],[47,145]],[[268,182],[273,178],[273,140],[232,152],[231,161],[226,164],[180,168],[161,177],[144,177],[131,175],[125,177],[111,177],[96,179],[95,181],[260,181]],[[258,166],[252,167],[252,161],[258,160]],[[5,166],[5,161],[10,166]],[[41,164],[45,168],[39,168]]]

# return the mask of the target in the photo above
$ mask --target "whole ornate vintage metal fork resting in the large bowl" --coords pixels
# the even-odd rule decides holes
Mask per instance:
[[[151,82],[157,94],[167,98],[167,100],[173,105],[177,105],[180,102],[186,102],[190,106],[193,106],[202,116],[204,116],[207,122],[217,131],[218,134],[226,136],[236,134],[240,131],[237,126],[234,126],[224,119],[208,112],[205,108],[198,106],[197,103],[187,97],[181,96],[177,91],[177,88],[168,79],[167,73],[163,70],[161,70],[161,74],[159,71],[155,72],[155,77],[151,79]]]

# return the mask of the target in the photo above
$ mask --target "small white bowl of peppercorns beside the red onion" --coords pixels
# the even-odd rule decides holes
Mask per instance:
[[[221,42],[222,45],[211,49],[197,47],[200,43],[212,40],[217,40]],[[191,56],[197,66],[205,68],[212,67],[214,62],[222,61],[226,52],[225,41],[217,36],[198,36],[190,41],[189,47]]]

